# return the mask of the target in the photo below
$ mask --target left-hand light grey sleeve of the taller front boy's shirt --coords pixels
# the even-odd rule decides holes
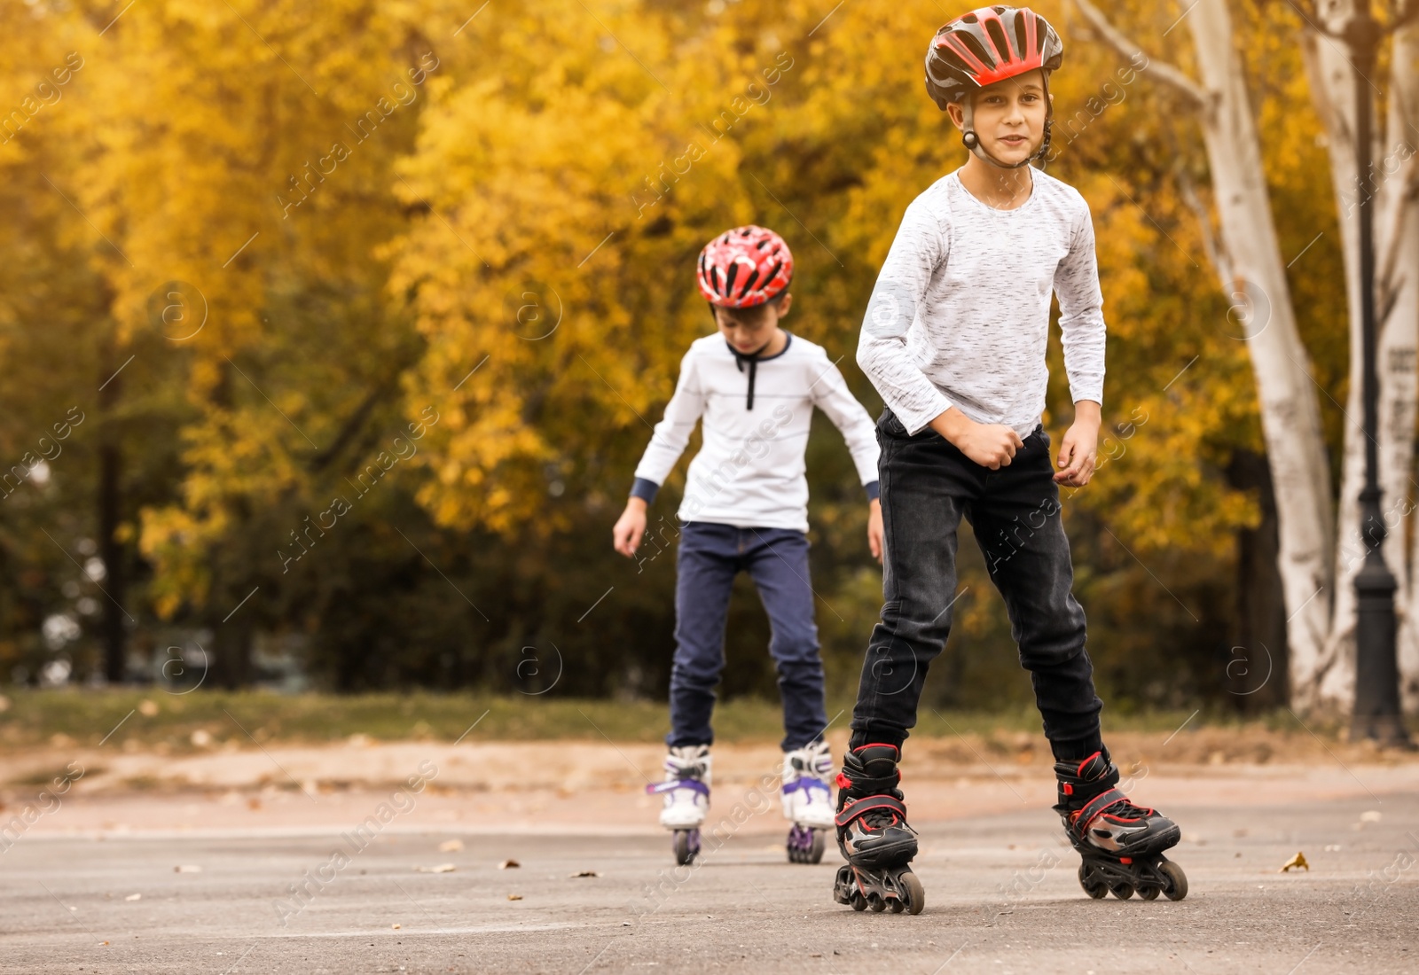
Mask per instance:
[[[877,275],[857,342],[857,364],[908,434],[917,434],[952,405],[907,351],[907,333],[946,249],[941,221],[928,204],[915,200]]]

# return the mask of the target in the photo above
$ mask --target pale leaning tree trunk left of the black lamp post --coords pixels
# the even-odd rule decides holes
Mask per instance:
[[[1223,288],[1242,309],[1276,489],[1291,699],[1308,707],[1318,703],[1332,598],[1334,520],[1320,407],[1296,330],[1226,1],[1199,0],[1188,24],[1208,96],[1202,125],[1226,251]]]

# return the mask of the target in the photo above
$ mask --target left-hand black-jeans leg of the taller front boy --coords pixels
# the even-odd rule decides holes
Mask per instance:
[[[935,431],[907,436],[890,411],[877,424],[883,506],[883,612],[853,710],[851,745],[901,745],[917,723],[927,667],[951,632],[956,529],[979,468]]]

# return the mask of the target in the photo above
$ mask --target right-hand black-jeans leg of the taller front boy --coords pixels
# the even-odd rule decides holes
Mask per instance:
[[[1054,757],[1083,760],[1103,748],[1103,703],[1084,649],[1084,609],[1073,594],[1074,565],[1043,429],[1025,439],[1010,466],[986,472],[969,519],[990,581],[1005,597]]]

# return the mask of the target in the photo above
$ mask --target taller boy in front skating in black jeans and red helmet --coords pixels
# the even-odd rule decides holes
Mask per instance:
[[[1056,758],[1080,883],[1152,898],[1186,894],[1164,859],[1178,826],[1135,806],[1100,737],[1059,485],[1094,470],[1104,317],[1088,205],[1030,167],[1050,145],[1050,72],[1063,45],[1025,7],[981,7],[927,52],[927,91],[971,150],[907,208],[863,322],[857,361],[887,410],[877,422],[885,526],[881,622],[863,666],[839,775],[834,896],[857,910],[922,907],[897,762],[927,667],[951,629],[956,527],[975,531],[1005,597]],[[1074,424],[1059,466],[1040,425],[1050,293],[1059,296]]]

